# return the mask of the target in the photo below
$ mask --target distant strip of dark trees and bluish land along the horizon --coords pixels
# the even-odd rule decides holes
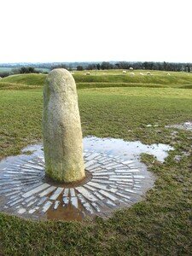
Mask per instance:
[[[162,70],[176,72],[192,72],[192,63],[173,63],[173,62],[155,62],[155,61],[102,61],[102,62],[50,62],[50,63],[26,63],[21,64],[2,64],[0,67],[13,67],[10,72],[0,71],[0,77],[6,77],[10,74],[19,73],[48,73],[37,70],[36,68],[66,68],[72,70],[105,70],[105,69],[146,69],[146,70]]]

